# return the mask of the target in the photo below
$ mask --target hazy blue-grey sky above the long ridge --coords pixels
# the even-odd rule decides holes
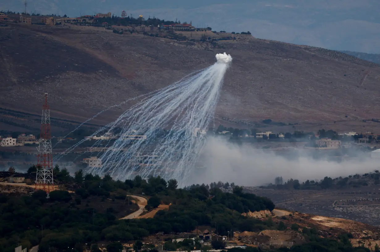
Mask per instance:
[[[380,0],[27,0],[28,12],[67,14],[121,11],[190,22],[256,38],[380,54]],[[0,9],[24,10],[24,0]]]

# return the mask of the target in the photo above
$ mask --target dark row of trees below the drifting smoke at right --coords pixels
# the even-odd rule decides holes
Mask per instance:
[[[351,179],[352,178],[352,179]],[[351,180],[350,180],[351,179]],[[375,170],[374,173],[365,173],[363,175],[355,174],[348,177],[342,178],[330,178],[325,177],[323,180],[314,181],[306,180],[302,183],[299,180],[290,180],[283,183],[282,177],[276,177],[274,184],[269,184],[268,186],[261,186],[261,188],[268,189],[287,189],[287,190],[323,190],[323,189],[340,189],[349,187],[360,187],[368,186],[367,181],[373,180],[373,184],[380,184],[380,173],[378,170]]]

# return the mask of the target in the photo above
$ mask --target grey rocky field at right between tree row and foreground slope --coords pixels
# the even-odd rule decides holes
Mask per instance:
[[[373,201],[374,198],[379,197],[379,190],[380,186],[322,191],[269,190],[250,187],[247,191],[270,198],[276,207],[306,214],[350,219],[380,227],[380,208]],[[359,199],[361,201],[358,201]],[[352,204],[338,205],[336,202],[340,200],[348,200]]]

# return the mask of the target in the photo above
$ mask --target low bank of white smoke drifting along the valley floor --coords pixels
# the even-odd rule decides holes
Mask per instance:
[[[338,163],[313,159],[302,149],[298,154],[299,157],[290,159],[268,149],[255,149],[248,144],[238,146],[219,137],[209,137],[203,150],[203,162],[207,168],[198,170],[189,182],[228,181],[242,186],[260,186],[274,183],[276,176],[282,176],[284,181],[293,178],[302,182],[321,180],[325,176],[337,178],[363,174],[379,167],[378,162],[370,158]]]

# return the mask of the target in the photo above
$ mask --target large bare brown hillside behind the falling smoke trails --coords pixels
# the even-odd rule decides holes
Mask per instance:
[[[234,122],[244,120],[250,125],[270,118],[299,123],[297,129],[304,130],[380,128],[362,121],[378,117],[380,66],[332,50],[247,36],[211,46],[96,27],[19,24],[0,27],[0,41],[0,78],[6,83],[0,90],[3,129],[38,129],[47,90],[52,128],[67,131],[108,106],[211,65],[220,52],[231,54],[233,64],[215,124],[237,126]],[[108,123],[120,111],[111,110],[92,123]],[[294,131],[283,129],[289,130]]]

